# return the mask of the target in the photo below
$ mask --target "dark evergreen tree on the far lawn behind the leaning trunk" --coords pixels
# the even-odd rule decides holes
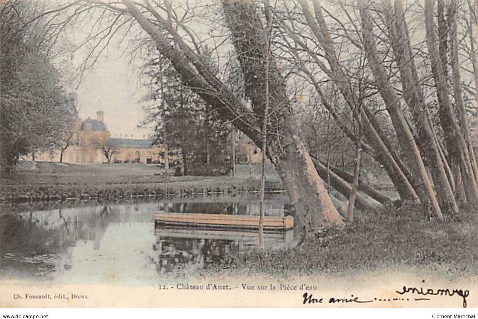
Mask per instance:
[[[186,87],[177,71],[157,59],[148,72],[153,80],[146,123],[155,124],[157,144],[178,153],[184,175],[224,175],[230,171],[230,127],[217,118],[214,106]],[[164,158],[164,154],[163,154]],[[173,163],[174,164],[174,163]]]

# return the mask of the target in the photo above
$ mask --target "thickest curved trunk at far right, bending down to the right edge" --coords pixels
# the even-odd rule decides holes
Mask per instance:
[[[445,132],[446,147],[448,155],[456,160],[460,167],[463,177],[463,184],[467,194],[467,202],[474,207],[478,207],[478,187],[473,173],[473,167],[470,161],[470,155],[467,150],[467,143],[460,134],[460,127],[457,124],[456,116],[453,111],[450,97],[448,96],[448,87],[446,78],[437,48],[437,37],[435,32],[435,23],[433,21],[434,0],[425,0],[424,15],[426,42],[432,73],[435,80],[438,104],[440,105],[440,121]]]

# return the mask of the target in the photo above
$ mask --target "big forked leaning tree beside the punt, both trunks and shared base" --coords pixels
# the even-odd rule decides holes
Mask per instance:
[[[237,129],[260,146],[261,121],[258,120],[257,115],[263,116],[265,105],[263,81],[256,83],[256,85],[259,84],[256,92],[254,92],[253,86],[248,88],[253,110],[257,111],[257,113],[251,114],[250,109],[209,71],[179,36],[176,36],[174,28],[165,25],[165,29],[173,35],[177,47],[170,45],[162,31],[148,21],[135,4],[130,0],[123,0],[123,2],[141,27],[156,42],[161,54],[168,58],[181,74],[185,84],[201,96],[206,103],[212,105],[224,120],[233,121]],[[259,17],[250,2],[229,3],[225,1],[223,7],[241,66],[243,70],[249,70],[244,74],[246,82],[252,81],[254,77],[258,77],[256,82],[261,82],[264,71],[262,65],[265,46]],[[150,6],[148,6],[148,10],[159,23],[163,25],[166,23]],[[250,50],[251,48],[255,48],[255,50]],[[254,54],[259,56],[254,57]],[[250,57],[249,60],[247,57]],[[256,58],[258,59],[256,60]],[[272,125],[270,126],[273,129],[268,129],[271,132],[271,135],[268,136],[268,157],[282,179],[297,212],[298,222],[304,226],[306,231],[319,227],[343,225],[341,217],[314,168],[309,152],[300,138],[292,108],[285,95],[285,83],[277,70],[273,57],[271,58],[270,65],[273,68],[270,70],[270,100],[272,108],[276,111],[271,118]],[[254,85],[254,83],[251,84]]]

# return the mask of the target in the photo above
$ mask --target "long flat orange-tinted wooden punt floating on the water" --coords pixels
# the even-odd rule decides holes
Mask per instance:
[[[251,215],[222,215],[196,213],[166,213],[160,211],[154,216],[157,226],[174,226],[181,228],[208,228],[208,229],[259,229],[259,216]],[[264,216],[264,231],[285,231],[292,229],[292,216]]]

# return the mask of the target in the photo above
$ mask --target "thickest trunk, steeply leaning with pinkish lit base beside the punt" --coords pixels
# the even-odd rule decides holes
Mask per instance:
[[[342,225],[300,137],[286,95],[285,81],[273,55],[267,52],[267,35],[253,4],[224,0],[222,5],[253,112],[261,118],[268,103],[273,110],[267,128],[267,154],[275,164],[295,208],[302,212],[305,228],[316,228],[322,224]],[[268,96],[264,95],[266,65],[269,66]]]

